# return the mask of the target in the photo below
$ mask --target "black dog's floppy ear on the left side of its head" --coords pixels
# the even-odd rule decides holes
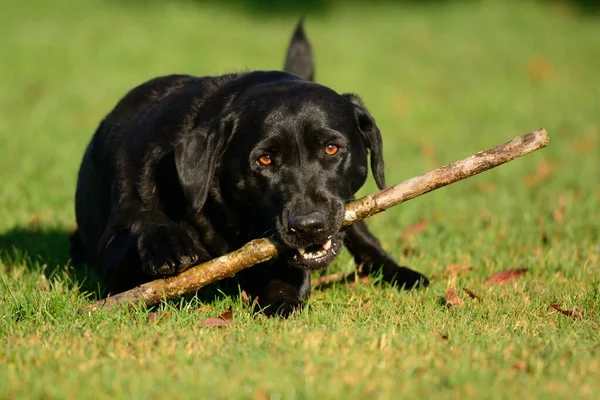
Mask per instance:
[[[215,169],[234,129],[232,115],[218,117],[184,135],[175,146],[179,183],[194,212],[204,206]]]

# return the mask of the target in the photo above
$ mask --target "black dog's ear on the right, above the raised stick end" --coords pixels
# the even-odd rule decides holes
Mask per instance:
[[[375,123],[375,119],[371,116],[360,97],[355,94],[347,93],[342,95],[354,107],[354,117],[358,129],[362,134],[365,147],[371,153],[371,171],[379,189],[385,188],[385,173],[383,166],[383,142],[381,140],[381,132]]]

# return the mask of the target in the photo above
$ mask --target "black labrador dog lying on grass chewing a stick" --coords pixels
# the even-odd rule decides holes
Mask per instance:
[[[97,267],[114,293],[271,237],[279,257],[236,277],[269,314],[300,307],[310,272],[342,244],[363,270],[426,286],[364,223],[342,229],[368,152],[385,187],[381,135],[358,96],[313,82],[302,21],[284,69],[165,76],[121,99],[83,157],[73,262]]]

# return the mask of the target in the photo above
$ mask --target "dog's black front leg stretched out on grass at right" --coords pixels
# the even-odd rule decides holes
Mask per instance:
[[[406,289],[429,285],[429,280],[424,275],[398,265],[381,248],[379,240],[373,236],[363,221],[348,226],[345,228],[345,233],[344,244],[354,256],[356,263],[362,265],[363,271],[369,274],[377,274],[381,271],[385,282]]]

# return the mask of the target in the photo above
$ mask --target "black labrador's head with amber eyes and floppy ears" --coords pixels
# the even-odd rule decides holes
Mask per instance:
[[[339,252],[344,205],[366,180],[368,152],[385,187],[381,135],[361,100],[312,82],[257,85],[196,140],[201,145],[182,145],[176,157],[194,207],[210,183],[198,178],[217,169],[220,191],[253,234],[274,237],[288,249],[284,257],[309,269]]]

